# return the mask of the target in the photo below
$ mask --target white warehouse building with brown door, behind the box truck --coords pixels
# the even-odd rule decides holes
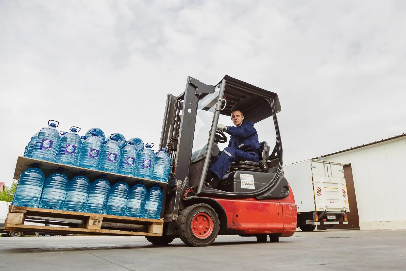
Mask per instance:
[[[350,213],[340,228],[406,229],[406,134],[322,157],[344,165]]]

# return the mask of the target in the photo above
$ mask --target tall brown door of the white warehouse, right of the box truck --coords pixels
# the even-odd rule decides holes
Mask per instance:
[[[358,207],[356,205],[354,179],[352,178],[351,164],[344,165],[343,169],[344,169],[344,178],[346,178],[347,184],[347,197],[348,203],[350,205],[350,212],[347,212],[348,224],[335,225],[333,229],[359,229]]]

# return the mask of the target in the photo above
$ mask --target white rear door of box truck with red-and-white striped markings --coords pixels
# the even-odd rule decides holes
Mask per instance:
[[[349,211],[343,165],[311,159],[316,211]]]

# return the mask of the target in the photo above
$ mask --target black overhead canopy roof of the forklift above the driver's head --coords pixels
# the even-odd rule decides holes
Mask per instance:
[[[227,106],[220,113],[231,115],[234,109],[240,109],[244,113],[244,120],[254,123],[272,116],[272,109],[267,102],[273,97],[276,113],[281,111],[278,94],[255,87],[241,80],[224,76],[226,85],[224,89]],[[218,83],[220,84],[222,80]]]

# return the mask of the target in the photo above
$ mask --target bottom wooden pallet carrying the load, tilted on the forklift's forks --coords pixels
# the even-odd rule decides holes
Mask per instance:
[[[63,227],[25,225],[25,222],[46,223]],[[162,236],[163,225],[163,219],[121,217],[11,205],[5,228],[7,231],[62,234]]]

